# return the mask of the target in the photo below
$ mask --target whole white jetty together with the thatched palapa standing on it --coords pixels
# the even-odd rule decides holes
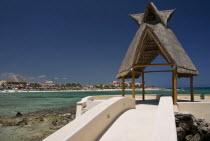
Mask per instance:
[[[121,96],[89,96],[77,103],[76,119],[44,141],[177,141],[175,112],[187,112],[210,121],[210,102],[194,102],[193,77],[198,70],[168,27],[172,10],[158,10],[148,3],[144,13],[130,15],[140,28],[128,48],[117,74],[122,79]],[[157,56],[167,64],[152,64]],[[169,66],[170,70],[145,71]],[[169,96],[145,96],[145,73],[171,72]],[[135,93],[135,79],[142,78],[142,94]],[[177,78],[190,78],[188,101],[177,99]],[[132,79],[132,95],[125,96],[125,79]],[[180,100],[180,99],[179,99]],[[192,108],[193,107],[193,108]],[[196,135],[197,136],[197,135]]]

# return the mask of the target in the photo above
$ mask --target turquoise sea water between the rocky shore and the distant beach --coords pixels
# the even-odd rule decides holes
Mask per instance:
[[[170,89],[146,91],[148,94],[171,94]],[[196,88],[195,94],[210,94],[210,88]],[[97,92],[36,92],[36,93],[0,93],[0,117],[12,117],[22,114],[67,113],[75,111],[76,102],[83,97],[93,95],[120,95],[121,91]],[[131,91],[126,91],[131,95]],[[136,95],[141,91],[136,92]],[[189,89],[179,89],[178,94],[190,94]]]

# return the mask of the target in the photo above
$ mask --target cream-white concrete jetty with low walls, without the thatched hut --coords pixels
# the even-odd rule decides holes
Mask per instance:
[[[190,102],[178,96],[173,105],[171,96],[149,99],[146,95],[145,101],[139,97],[85,97],[77,103],[76,119],[44,141],[177,141],[175,112],[210,121],[209,101]]]

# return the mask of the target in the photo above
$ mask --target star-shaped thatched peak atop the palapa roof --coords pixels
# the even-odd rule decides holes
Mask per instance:
[[[130,16],[139,24],[149,23],[157,24],[162,23],[167,27],[168,21],[174,13],[175,9],[159,11],[154,3],[150,2],[147,4],[144,13],[131,14]]]

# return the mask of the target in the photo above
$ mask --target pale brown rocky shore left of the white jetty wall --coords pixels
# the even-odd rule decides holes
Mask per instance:
[[[0,117],[0,140],[41,141],[75,118],[75,113]]]

